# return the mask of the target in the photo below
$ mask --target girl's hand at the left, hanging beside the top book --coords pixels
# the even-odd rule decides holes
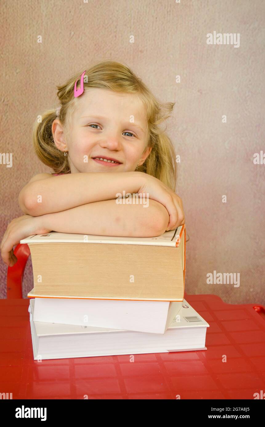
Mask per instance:
[[[42,226],[41,216],[22,215],[13,219],[7,226],[0,245],[1,257],[7,266],[12,267],[17,262],[13,247],[18,245],[20,240],[31,236],[32,234],[44,234],[47,230]]]

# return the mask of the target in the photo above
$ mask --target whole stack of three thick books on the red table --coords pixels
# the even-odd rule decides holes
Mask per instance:
[[[51,231],[30,248],[35,360],[205,350],[204,319],[183,299],[185,225],[159,237]]]

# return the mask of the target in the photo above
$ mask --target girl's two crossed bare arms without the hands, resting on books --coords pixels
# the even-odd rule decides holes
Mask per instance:
[[[140,174],[47,175],[21,190],[19,204],[24,213],[38,216],[41,228],[48,230],[102,236],[159,236],[169,222],[167,209],[161,203],[152,199],[148,207],[116,203],[116,193],[139,191]]]

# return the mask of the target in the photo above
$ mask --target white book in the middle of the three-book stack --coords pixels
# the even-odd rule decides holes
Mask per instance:
[[[33,321],[164,333],[181,306],[179,301],[35,298]]]

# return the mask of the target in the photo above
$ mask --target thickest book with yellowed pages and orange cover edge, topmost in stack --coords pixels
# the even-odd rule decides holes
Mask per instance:
[[[51,231],[20,240],[30,248],[28,296],[182,301],[186,228],[158,237],[111,237]]]

